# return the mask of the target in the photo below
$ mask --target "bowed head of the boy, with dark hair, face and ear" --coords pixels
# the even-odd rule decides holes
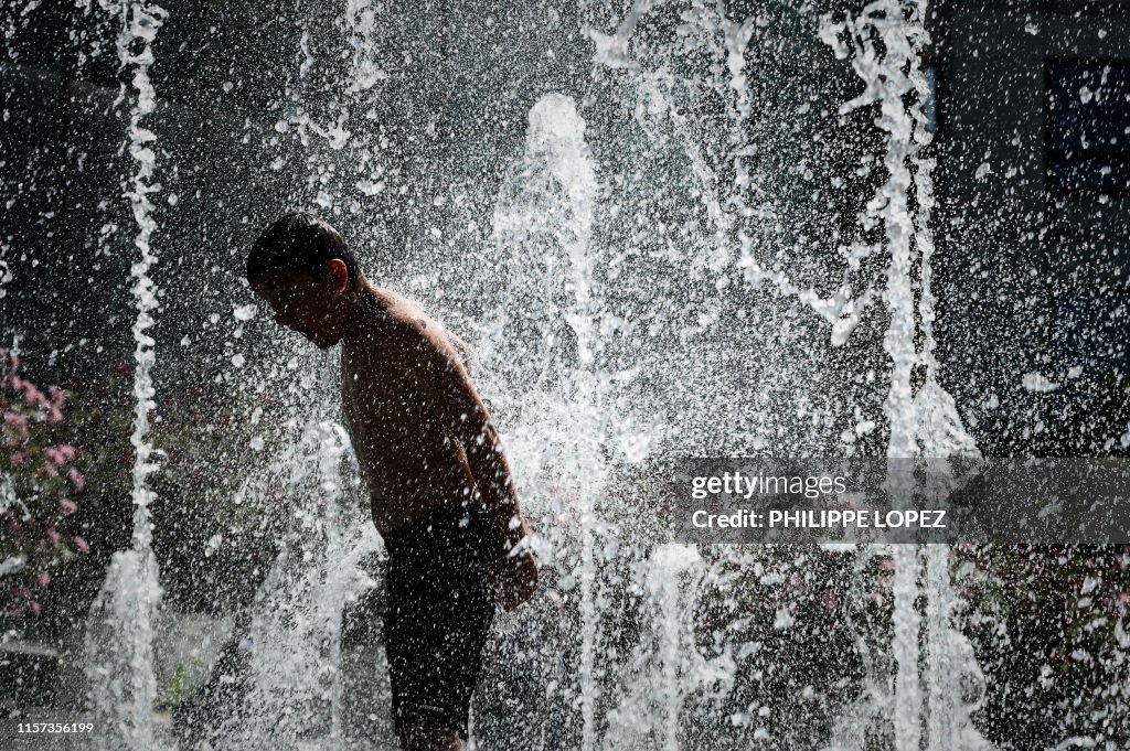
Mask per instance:
[[[341,339],[360,272],[337,229],[308,211],[289,211],[251,246],[247,281],[279,324],[327,349]]]

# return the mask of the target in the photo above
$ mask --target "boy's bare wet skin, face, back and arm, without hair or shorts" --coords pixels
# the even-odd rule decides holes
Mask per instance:
[[[503,541],[498,602],[506,610],[525,602],[537,586],[537,561],[529,550],[507,551],[529,529],[462,342],[409,300],[364,279],[351,285],[340,260],[322,278],[269,271],[252,289],[280,325],[323,350],[341,344],[346,427],[377,531],[466,500],[485,503]]]

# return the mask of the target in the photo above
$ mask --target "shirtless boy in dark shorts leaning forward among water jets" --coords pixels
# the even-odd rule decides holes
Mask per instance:
[[[389,552],[385,649],[403,749],[461,749],[494,619],[533,593],[537,561],[466,346],[374,287],[333,227],[285,215],[255,241],[247,281],[275,320],[341,344],[346,427]]]

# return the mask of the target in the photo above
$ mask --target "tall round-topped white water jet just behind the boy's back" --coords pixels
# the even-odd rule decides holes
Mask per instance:
[[[601,394],[597,374],[592,372],[600,340],[594,335],[597,314],[592,298],[592,261],[589,242],[592,232],[592,208],[598,190],[596,172],[584,142],[584,121],[573,102],[558,94],[542,96],[530,110],[525,156],[512,171],[508,191],[504,189],[494,215],[494,229],[502,245],[512,244],[514,282],[511,289],[520,309],[520,300],[538,299],[542,290],[551,290],[565,278],[565,300],[544,300],[545,306],[530,308],[541,316],[532,323],[534,356],[523,366],[533,365],[544,382],[550,374],[565,370],[572,383],[563,384],[564,393],[553,394],[566,400],[580,435],[589,436],[588,447],[574,447],[566,456],[560,479],[573,488],[580,501],[575,509],[581,536],[581,556],[576,568],[581,597],[580,631],[580,706],[582,716],[581,748],[596,748],[596,632],[599,613],[594,604],[597,569],[593,559],[592,499],[601,492],[606,470],[596,454],[599,437],[605,435],[600,409]],[[510,192],[512,191],[512,192]],[[534,246],[549,243],[554,251],[539,253]],[[544,268],[530,269],[530,262],[544,262]],[[528,295],[523,299],[522,296]],[[554,311],[557,314],[554,314]],[[567,332],[560,322],[567,325]],[[516,332],[518,333],[518,332]],[[554,346],[570,333],[575,341],[575,366],[568,358],[554,358]],[[515,337],[521,341],[521,333]],[[524,378],[523,378],[524,379]],[[534,381],[533,383],[538,383]],[[534,405],[531,405],[534,407]]]

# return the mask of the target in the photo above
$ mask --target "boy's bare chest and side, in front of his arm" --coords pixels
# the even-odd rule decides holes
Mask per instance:
[[[427,395],[407,378],[407,363],[389,337],[434,346],[403,316],[418,309],[394,305],[373,322],[374,337],[341,347],[341,401],[357,461],[368,486],[373,523],[382,534],[437,508],[468,499],[475,483],[460,443],[442,423]],[[429,325],[436,325],[429,323]],[[399,343],[403,343],[403,340]]]

